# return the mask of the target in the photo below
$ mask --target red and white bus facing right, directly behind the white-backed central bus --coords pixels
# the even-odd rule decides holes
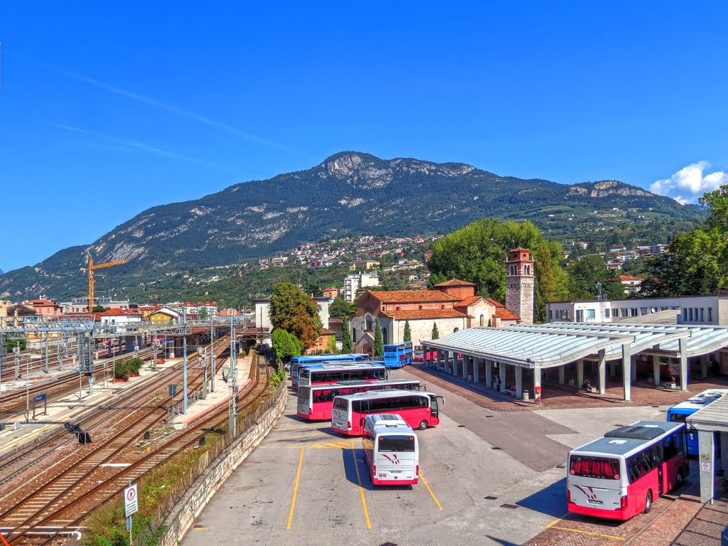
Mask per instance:
[[[432,392],[378,390],[333,399],[331,428],[350,436],[364,433],[364,419],[369,414],[397,414],[412,428],[425,430],[440,424],[438,398]]]

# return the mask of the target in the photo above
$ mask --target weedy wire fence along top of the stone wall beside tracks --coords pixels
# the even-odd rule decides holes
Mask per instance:
[[[265,365],[265,364],[264,364]],[[215,462],[215,459],[220,456],[229,446],[232,446],[237,438],[248,432],[250,427],[257,424],[258,419],[263,416],[270,408],[272,408],[280,399],[280,396],[285,391],[285,383],[274,391],[269,392],[260,403],[255,411],[251,411],[248,414],[240,415],[237,418],[237,435],[233,436],[229,430],[224,435],[219,436],[210,448],[202,454],[197,462],[194,463],[193,467],[182,475],[178,482],[173,488],[171,488],[167,498],[164,499],[157,507],[157,512],[154,515],[154,519],[143,526],[143,529],[136,530],[134,535],[134,546],[156,546],[159,543],[159,539],[164,531],[162,529],[162,523],[165,521],[168,515],[170,515],[176,504],[181,501],[187,491],[194,485],[195,481],[202,475],[210,464]]]

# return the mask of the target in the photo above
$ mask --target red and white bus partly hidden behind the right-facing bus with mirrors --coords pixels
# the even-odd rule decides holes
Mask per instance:
[[[296,415],[309,421],[331,419],[333,399],[337,396],[354,395],[372,390],[401,389],[419,390],[416,379],[387,379],[386,381],[339,381],[333,385],[309,385],[298,387]]]

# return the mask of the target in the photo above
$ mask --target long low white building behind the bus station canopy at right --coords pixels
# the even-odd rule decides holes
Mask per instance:
[[[614,323],[673,311],[677,324],[728,325],[728,296],[554,301],[546,309],[550,323]]]

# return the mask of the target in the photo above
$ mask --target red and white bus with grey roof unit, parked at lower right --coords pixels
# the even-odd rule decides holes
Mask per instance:
[[[626,521],[689,473],[685,424],[640,421],[569,452],[569,512]]]

